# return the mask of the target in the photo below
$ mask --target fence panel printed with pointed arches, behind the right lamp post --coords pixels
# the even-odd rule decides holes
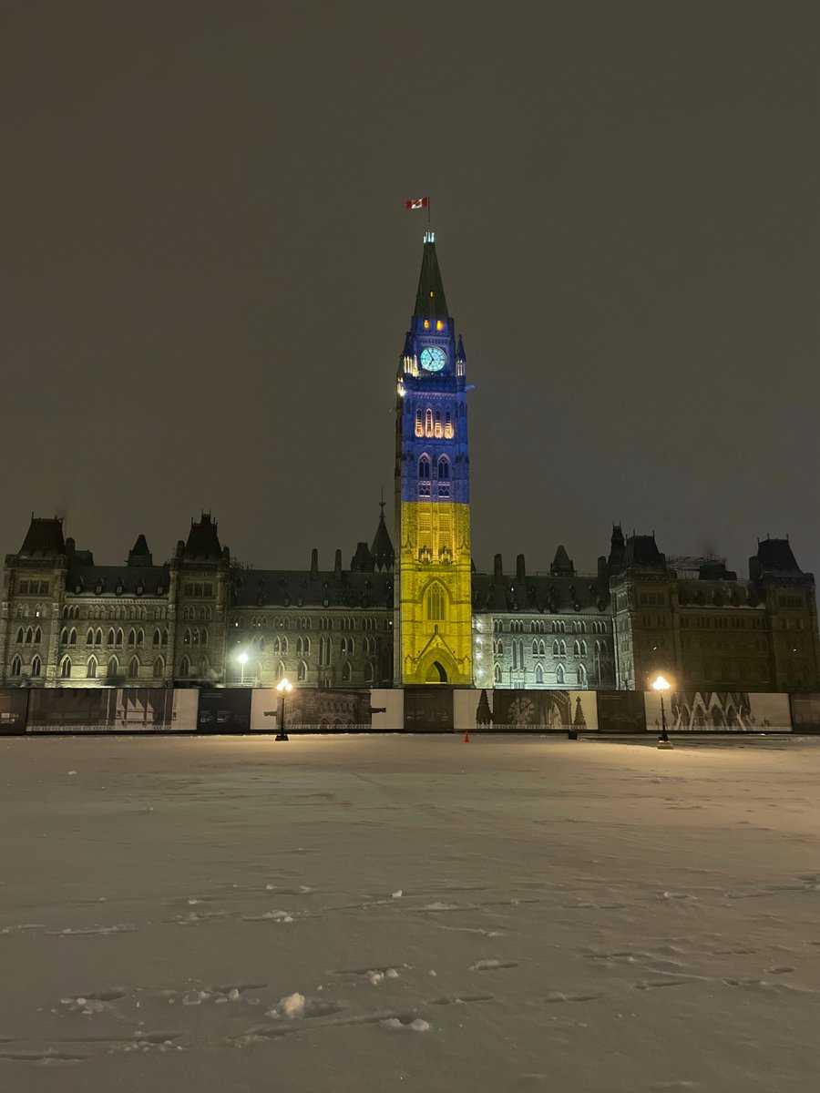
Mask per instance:
[[[659,732],[790,732],[787,694],[753,691],[669,691],[664,696],[644,692],[646,728]]]

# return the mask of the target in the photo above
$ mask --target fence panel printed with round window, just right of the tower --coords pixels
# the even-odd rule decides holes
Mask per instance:
[[[595,691],[454,691],[458,732],[596,732]]]

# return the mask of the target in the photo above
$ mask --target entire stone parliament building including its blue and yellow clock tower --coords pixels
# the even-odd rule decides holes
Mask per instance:
[[[169,560],[138,534],[98,565],[33,517],[5,555],[3,686],[818,691],[815,580],[787,539],[764,539],[740,578],[725,560],[667,557],[611,531],[594,574],[563,545],[549,573],[478,573],[470,545],[467,354],[433,233],[396,376],[395,524],[384,504],[347,566],[246,568],[210,514]],[[134,529],[136,531],[136,529]]]

